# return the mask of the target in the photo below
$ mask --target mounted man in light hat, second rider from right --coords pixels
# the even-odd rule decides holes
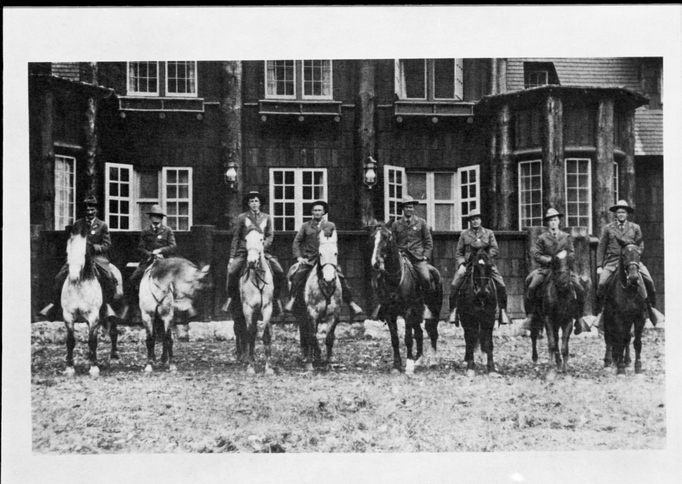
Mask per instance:
[[[578,301],[578,304],[576,304],[576,312],[573,315],[576,319],[576,329],[574,333],[580,334],[583,331],[590,331],[589,325],[585,323],[582,318],[584,289],[580,284],[578,274],[573,271],[574,261],[576,259],[573,238],[569,236],[568,233],[559,230],[561,217],[563,217],[563,214],[557,212],[554,208],[548,209],[544,219],[542,219],[544,223],[548,225],[548,229],[540,234],[531,247],[531,256],[540,267],[531,272],[526,278],[528,307],[526,308],[527,318],[526,321],[524,321],[523,329],[531,329],[531,321],[533,321],[534,315],[537,314],[537,310],[539,310],[540,300],[542,298],[542,294],[539,293],[539,288],[542,287],[542,283],[551,272],[550,262],[552,261],[552,257],[565,251],[568,267],[571,269],[571,282],[576,293],[576,300]]]

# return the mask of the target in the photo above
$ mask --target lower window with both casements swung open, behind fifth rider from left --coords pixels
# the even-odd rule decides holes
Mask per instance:
[[[419,201],[415,214],[436,231],[462,230],[463,217],[480,207],[479,165],[457,172],[405,172],[402,167],[384,166],[385,219],[398,218],[404,189]]]

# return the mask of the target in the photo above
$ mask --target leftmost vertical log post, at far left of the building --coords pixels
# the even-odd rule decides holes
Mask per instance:
[[[55,98],[45,86],[40,107],[40,159],[42,165],[42,196],[40,222],[45,230],[55,229]]]

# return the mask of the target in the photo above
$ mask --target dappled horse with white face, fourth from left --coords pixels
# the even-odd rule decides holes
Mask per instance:
[[[320,348],[317,343],[317,328],[320,323],[327,324],[327,363],[331,361],[334,344],[334,332],[339,323],[341,310],[341,281],[338,276],[338,235],[336,230],[329,237],[324,231],[319,233],[320,246],[318,261],[310,271],[306,280],[304,300],[308,310],[308,318],[299,324],[304,325],[301,331],[301,346],[306,358],[308,370],[312,370],[313,362],[320,359]]]

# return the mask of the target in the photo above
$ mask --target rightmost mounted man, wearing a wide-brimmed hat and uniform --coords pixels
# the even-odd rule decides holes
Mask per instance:
[[[612,275],[618,269],[619,259],[621,257],[621,242],[624,244],[634,244],[639,247],[640,255],[644,252],[644,240],[642,238],[642,229],[636,223],[627,221],[627,216],[634,213],[634,208],[627,204],[625,200],[619,200],[617,204],[609,208],[615,214],[616,220],[602,229],[602,236],[599,237],[599,245],[597,246],[597,275],[599,276],[599,283],[597,284],[597,319],[594,325],[602,329],[602,311],[604,310],[604,296],[608,283],[612,279]],[[619,242],[621,241],[621,242]],[[647,267],[640,262],[639,272],[642,274],[644,287],[647,289],[647,310],[651,323],[656,325],[664,319],[663,314],[655,309],[656,305],[656,289],[653,285],[653,279]]]

